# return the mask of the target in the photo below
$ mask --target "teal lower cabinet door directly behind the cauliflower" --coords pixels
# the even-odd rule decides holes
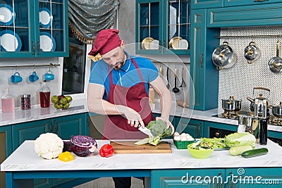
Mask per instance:
[[[23,141],[35,140],[40,134],[48,132],[50,128],[51,121],[49,119],[13,125],[13,151],[15,151]]]

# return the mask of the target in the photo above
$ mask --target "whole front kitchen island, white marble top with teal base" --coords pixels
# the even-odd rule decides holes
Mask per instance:
[[[268,141],[264,147],[269,149],[266,155],[255,158],[231,156],[228,150],[214,151],[207,159],[192,158],[190,153],[178,150],[171,139],[172,153],[155,154],[114,154],[102,158],[98,152],[86,158],[75,156],[68,163],[58,158],[44,160],[34,150],[34,141],[25,141],[1,164],[6,172],[6,187],[32,187],[37,178],[88,178],[95,177],[150,177],[150,187],[174,187],[197,184],[207,187],[272,182],[271,187],[282,184],[282,150],[278,144]],[[98,148],[109,141],[97,141]],[[256,145],[256,148],[262,146]],[[197,178],[195,178],[197,177]],[[233,178],[231,178],[233,177]],[[238,182],[247,177],[252,182]],[[235,179],[236,178],[236,179]],[[209,180],[209,181],[208,181]],[[216,181],[215,181],[216,180]],[[212,181],[212,182],[211,182]]]

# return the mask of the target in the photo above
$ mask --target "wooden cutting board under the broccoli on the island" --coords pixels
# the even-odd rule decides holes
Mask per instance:
[[[111,141],[116,154],[133,154],[133,153],[172,153],[171,146],[167,142],[160,142],[157,146],[149,143],[135,145],[136,141]]]

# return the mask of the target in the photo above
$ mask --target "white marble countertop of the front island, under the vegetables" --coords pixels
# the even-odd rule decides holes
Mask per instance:
[[[166,140],[172,143],[172,140]],[[98,140],[98,148],[109,141]],[[256,148],[262,146],[256,145]],[[282,167],[282,150],[278,144],[268,140],[263,146],[269,149],[266,155],[254,158],[232,156],[228,150],[214,151],[209,158],[192,158],[188,150],[178,150],[171,144],[172,153],[114,154],[102,158],[98,151],[94,155],[63,162],[58,158],[40,158],[34,149],[34,141],[25,141],[1,164],[1,171],[27,170],[141,170],[141,169],[190,169],[190,168],[261,168]],[[125,163],[126,161],[126,163]]]

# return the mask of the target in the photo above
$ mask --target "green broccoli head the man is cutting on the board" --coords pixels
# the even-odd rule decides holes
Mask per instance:
[[[154,136],[149,136],[148,138],[145,138],[146,140],[148,140],[147,143],[152,144],[153,146],[157,146],[157,144],[161,141],[161,139],[163,139],[166,136],[171,136],[171,132],[172,129],[171,127],[169,127],[168,129],[166,129],[166,122],[164,122],[163,120],[159,119],[157,121],[151,121],[149,122],[149,124],[147,125],[147,128],[149,130],[151,130],[152,134]],[[144,139],[143,139],[144,140]],[[136,143],[138,144],[139,141]],[[144,142],[140,142],[140,143],[144,143]]]

